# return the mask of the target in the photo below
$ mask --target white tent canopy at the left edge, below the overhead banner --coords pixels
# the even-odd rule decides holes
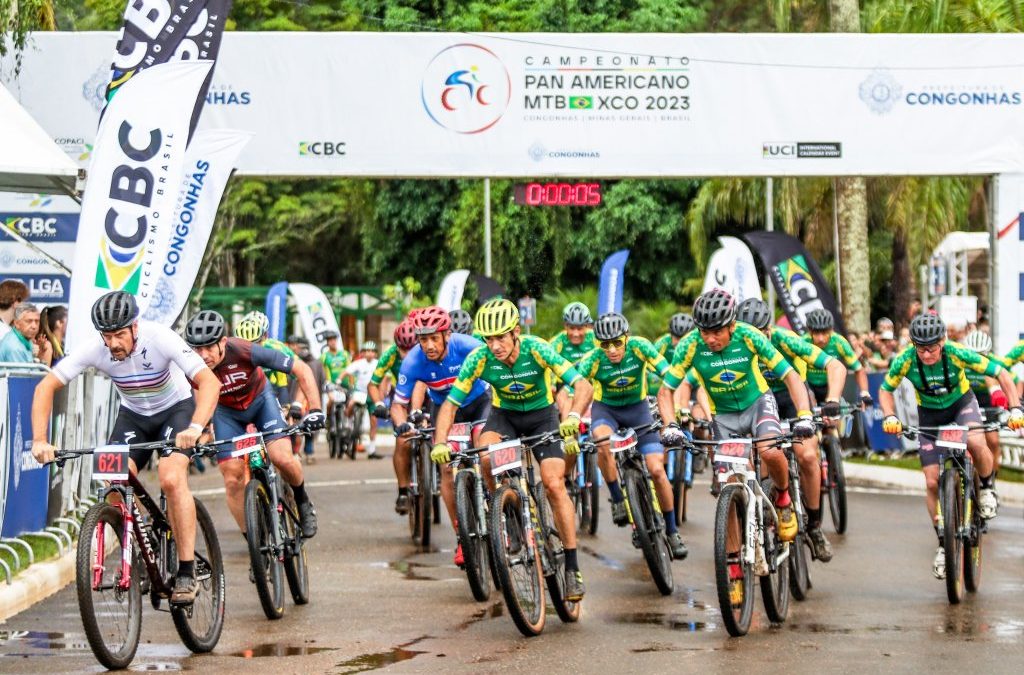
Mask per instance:
[[[0,86],[0,192],[75,194],[78,166]]]

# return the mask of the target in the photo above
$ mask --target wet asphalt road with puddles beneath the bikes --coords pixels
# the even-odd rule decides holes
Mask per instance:
[[[147,603],[133,670],[216,673],[492,672],[567,669],[618,672],[711,668],[804,673],[1021,672],[1024,665],[1024,520],[1006,508],[985,540],[981,591],[950,606],[931,575],[934,535],[921,497],[851,494],[850,530],[833,537],[835,559],[815,562],[814,588],[771,626],[760,597],[750,635],[722,627],[712,566],[714,502],[695,488],[684,525],[690,556],[675,564],[676,591],[663,597],[629,534],[610,525],[581,542],[588,595],[577,625],[549,611],[544,634],[526,639],[496,592],[473,601],[452,564],[445,524],[437,547],[412,545],[392,510],[390,462],[322,459],[307,469],[321,530],[310,543],[312,601],[288,604],[269,622],[247,579],[248,556],[209,472],[206,492],[227,574],[223,635],[212,655],[193,657],[170,621]],[[154,482],[151,478],[148,482]],[[0,625],[0,672],[102,670],[82,633],[74,585]]]

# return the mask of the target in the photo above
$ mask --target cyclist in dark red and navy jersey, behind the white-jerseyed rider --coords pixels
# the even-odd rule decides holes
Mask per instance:
[[[308,366],[274,349],[242,338],[227,337],[224,318],[216,311],[207,309],[189,319],[185,324],[185,341],[220,380],[220,400],[213,415],[214,435],[218,440],[244,434],[249,424],[266,434],[285,428],[281,408],[267,386],[262,368],[295,375],[307,400],[314,402],[319,395],[316,380]],[[324,413],[318,408],[313,408],[302,418],[301,424],[307,430],[314,431],[323,429],[324,422]],[[292,487],[295,494],[302,536],[313,537],[316,534],[316,510],[309,501],[302,475],[302,463],[292,454],[290,439],[274,438],[267,442],[266,450],[270,461],[281,471],[282,478]],[[219,462],[219,468],[224,478],[227,509],[245,537],[243,509],[248,466],[242,458],[238,458]]]

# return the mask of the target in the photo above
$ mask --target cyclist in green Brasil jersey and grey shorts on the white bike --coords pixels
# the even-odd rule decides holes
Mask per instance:
[[[802,439],[814,435],[807,389],[800,376],[768,338],[754,327],[736,322],[736,300],[732,295],[715,289],[698,297],[693,304],[693,322],[697,330],[676,345],[672,366],[657,393],[662,419],[676,419],[674,393],[680,385],[689,387],[684,379],[692,368],[708,395],[711,406],[708,412],[713,416],[717,438],[781,434],[775,397],[761,374],[763,366],[785,382],[797,405],[799,419],[793,425],[794,435]],[[681,420],[686,421],[685,409],[678,412]],[[675,421],[662,430],[662,439],[669,446],[682,440],[682,431]],[[775,486],[779,538],[792,542],[797,536],[797,516],[790,500],[785,454],[767,444],[762,444],[758,452]],[[739,565],[731,565],[730,574],[741,574]]]

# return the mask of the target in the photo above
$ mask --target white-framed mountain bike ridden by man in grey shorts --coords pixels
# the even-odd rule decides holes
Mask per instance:
[[[709,445],[721,490],[715,507],[715,584],[729,635],[745,635],[754,615],[754,577],[760,578],[765,614],[773,623],[790,611],[791,546],[778,537],[778,515],[762,484],[757,445],[784,448],[793,434],[692,441]],[[730,566],[738,575],[730,575]]]

